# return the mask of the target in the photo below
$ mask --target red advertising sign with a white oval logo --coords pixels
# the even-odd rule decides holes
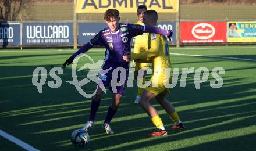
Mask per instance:
[[[226,42],[226,22],[181,22],[181,43]]]

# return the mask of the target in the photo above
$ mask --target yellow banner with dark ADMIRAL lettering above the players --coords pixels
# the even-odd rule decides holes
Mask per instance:
[[[158,13],[177,13],[179,0],[76,0],[76,13],[104,13],[118,9],[120,13],[136,13],[139,5],[147,6]]]

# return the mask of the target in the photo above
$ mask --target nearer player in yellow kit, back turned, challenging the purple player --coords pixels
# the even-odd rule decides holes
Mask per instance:
[[[158,15],[155,10],[147,10],[144,12],[143,23],[146,26],[156,26]],[[123,56],[123,58],[127,56]],[[165,70],[171,67],[168,42],[165,37],[158,34],[148,35],[148,51],[141,53],[131,53],[131,60],[146,60],[150,59],[153,67],[153,75],[150,78],[151,85],[144,89],[140,97],[140,106],[151,117],[152,123],[155,125],[156,130],[150,136],[167,135],[167,131],[163,125],[157,110],[150,104],[150,100],[155,98],[157,102],[165,109],[169,117],[173,120],[175,125],[172,126],[173,130],[184,129],[182,121],[175,111],[172,104],[165,99],[165,95],[169,92],[169,88],[165,84],[172,81],[172,76],[166,76]],[[170,74],[170,73],[169,73]]]

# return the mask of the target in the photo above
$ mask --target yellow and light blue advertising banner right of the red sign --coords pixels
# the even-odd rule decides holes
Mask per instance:
[[[256,22],[227,22],[227,42],[256,42]]]

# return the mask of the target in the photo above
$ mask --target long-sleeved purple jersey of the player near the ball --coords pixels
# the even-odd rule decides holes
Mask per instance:
[[[112,63],[128,64],[123,60],[124,55],[129,55],[131,51],[131,39],[143,33],[156,33],[169,35],[169,31],[162,30],[161,28],[154,28],[151,26],[141,26],[138,24],[120,24],[118,31],[111,31],[108,28],[99,31],[99,33],[90,40],[87,44],[74,53],[76,57],[80,53],[85,53],[93,46],[105,46],[105,61],[109,60]]]

